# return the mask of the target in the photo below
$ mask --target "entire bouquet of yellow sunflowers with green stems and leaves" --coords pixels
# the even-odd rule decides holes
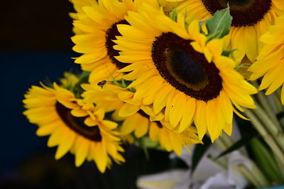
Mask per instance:
[[[70,1],[82,72],[23,99],[56,159],[70,152],[104,173],[136,144],[190,161],[188,176],[160,188],[284,183],[284,0]],[[204,158],[235,177],[198,183]],[[158,188],[155,177],[138,185]]]

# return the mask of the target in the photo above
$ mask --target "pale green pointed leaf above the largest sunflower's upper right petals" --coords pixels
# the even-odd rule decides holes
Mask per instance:
[[[228,35],[232,20],[233,17],[230,15],[229,6],[226,9],[215,12],[214,16],[206,23],[208,30],[207,42],[214,38],[223,38]]]

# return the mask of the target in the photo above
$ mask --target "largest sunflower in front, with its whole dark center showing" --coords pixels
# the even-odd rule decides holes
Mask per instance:
[[[207,131],[212,141],[222,130],[230,135],[233,111],[239,114],[233,104],[240,111],[255,108],[250,95],[257,90],[222,56],[224,41],[205,43],[198,21],[185,24],[184,13],[175,22],[147,4],[140,8],[126,16],[131,26],[118,26],[122,37],[114,47],[121,50],[116,58],[130,63],[120,71],[134,80],[128,86],[136,87],[133,99],[153,103],[171,130],[185,131],[194,120],[200,139]]]

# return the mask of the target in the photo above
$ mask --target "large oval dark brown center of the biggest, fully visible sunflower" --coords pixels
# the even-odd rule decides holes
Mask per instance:
[[[222,78],[214,63],[208,63],[191,42],[174,33],[163,33],[155,38],[152,59],[160,75],[175,89],[207,102],[218,97]]]

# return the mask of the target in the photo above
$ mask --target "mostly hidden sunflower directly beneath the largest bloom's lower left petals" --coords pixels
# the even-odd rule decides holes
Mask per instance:
[[[132,132],[137,138],[149,134],[150,138],[159,141],[160,146],[165,150],[175,151],[178,155],[182,153],[182,146],[187,148],[188,145],[200,143],[195,127],[189,125],[181,133],[171,131],[169,123],[163,119],[163,114],[153,114],[153,106],[146,105],[146,101],[133,100],[134,92],[113,85],[111,82],[104,87],[87,84],[82,87],[86,90],[82,96],[88,103],[105,100],[121,102],[121,107],[114,111],[112,118],[122,121],[119,133],[123,138],[128,137]]]

